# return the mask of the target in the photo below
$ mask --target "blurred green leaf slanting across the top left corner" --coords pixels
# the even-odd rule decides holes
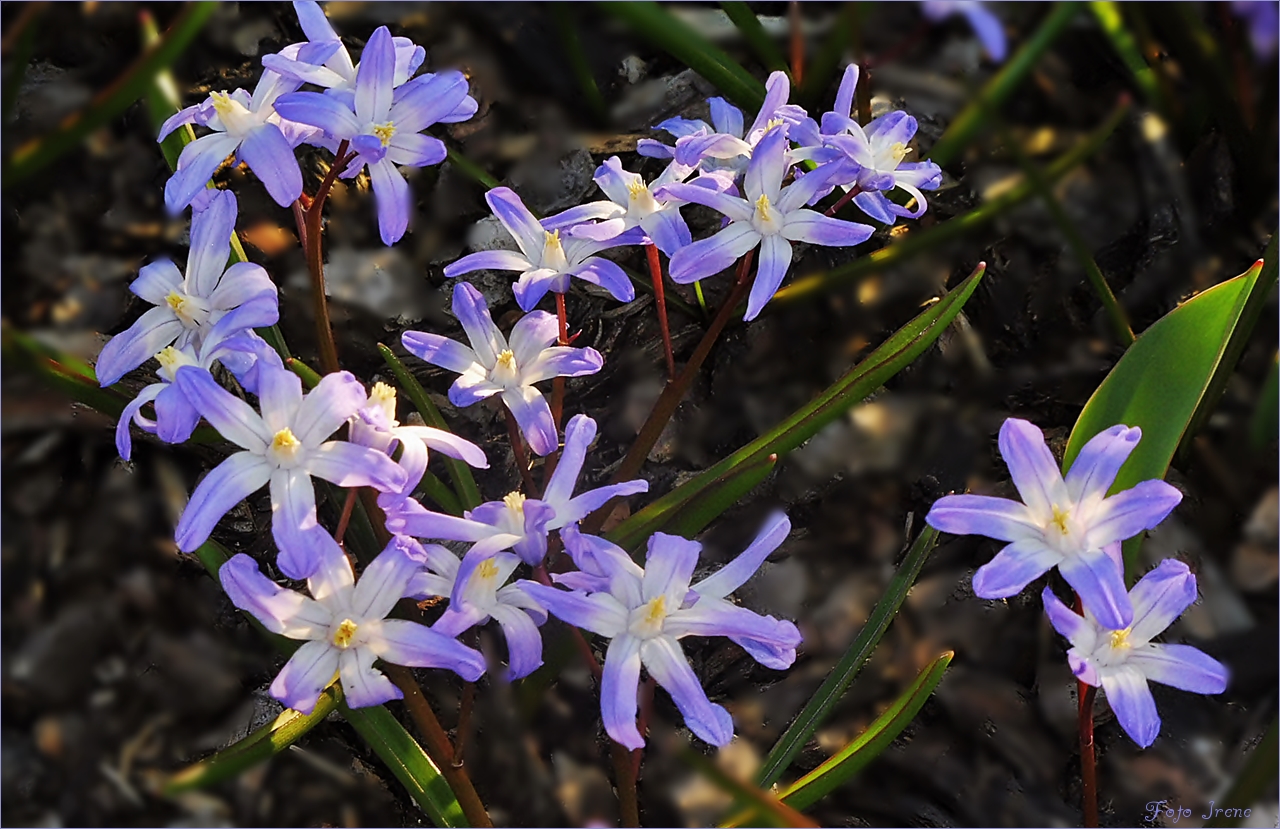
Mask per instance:
[[[146,50],[124,74],[99,92],[84,109],[68,116],[52,133],[14,150],[5,164],[4,187],[19,184],[40,173],[64,152],[79,145],[91,132],[143,97],[156,73],[187,50],[216,8],[215,3],[195,3],[187,6],[160,42]]]

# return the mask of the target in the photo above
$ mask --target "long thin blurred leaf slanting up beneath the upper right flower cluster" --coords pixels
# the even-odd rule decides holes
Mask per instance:
[[[1124,122],[1128,113],[1128,101],[1117,105],[1101,127],[1085,136],[1075,147],[1062,154],[1052,164],[1044,168],[1042,174],[1044,182],[1056,182],[1082,161],[1092,156],[1098,147],[1101,147],[1106,139],[1111,137],[1115,128]],[[1007,191],[993,197],[983,206],[975,207],[964,215],[933,225],[928,230],[914,230],[908,233],[901,242],[893,242],[892,244],[868,256],[854,260],[847,265],[841,265],[840,267],[833,267],[828,271],[818,274],[799,276],[794,279],[790,285],[786,285],[778,293],[773,294],[773,299],[771,299],[769,304],[764,307],[764,313],[769,313],[771,310],[781,308],[788,302],[800,302],[822,296],[841,285],[855,281],[861,276],[877,274],[887,267],[905,262],[916,253],[933,249],[934,247],[943,244],[945,242],[950,242],[951,239],[963,238],[977,228],[995,221],[997,217],[1009,212],[1034,194],[1036,187],[1029,180],[1023,179],[1014,187],[1010,187]]]

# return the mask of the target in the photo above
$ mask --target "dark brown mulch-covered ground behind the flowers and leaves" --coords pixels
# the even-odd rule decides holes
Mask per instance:
[[[783,4],[758,4],[785,17]],[[703,13],[713,6],[699,6]],[[1047,6],[997,6],[1014,47]],[[137,55],[132,4],[51,4],[38,36],[8,155],[54,128],[104,88]],[[591,198],[595,165],[621,154],[646,175],[655,161],[631,150],[645,128],[673,114],[705,116],[712,87],[598,8],[571,6],[613,123],[584,104],[549,6],[531,4],[340,4],[330,9],[352,47],[390,24],[428,49],[425,70],[461,67],[480,113],[451,127],[451,141],[535,210]],[[810,59],[838,6],[804,8]],[[1206,31],[1239,42],[1228,15],[1206,9]],[[8,28],[22,13],[0,10]],[[161,29],[178,9],[155,9]],[[1149,13],[1148,18],[1160,15]],[[888,52],[915,29],[916,9],[873,6],[860,37]],[[1160,23],[1156,26],[1157,35]],[[210,88],[252,88],[261,55],[301,40],[285,4],[220,6],[174,65],[184,101]],[[1235,40],[1230,40],[1235,38]],[[744,45],[724,46],[763,77]],[[6,45],[6,50],[9,46]],[[1212,96],[1235,95],[1165,54],[1183,118],[1161,132],[1146,109],[1132,115],[1087,162],[1056,187],[1066,212],[1142,330],[1213,283],[1244,271],[1276,226],[1275,63],[1243,72],[1252,81],[1261,166],[1242,168]],[[1243,56],[1242,60],[1248,60]],[[5,54],[9,72],[9,54]],[[625,68],[640,68],[643,78]],[[873,106],[905,107],[920,120],[918,152],[929,146],[993,72],[963,24],[931,28],[904,56],[872,73]],[[8,78],[8,74],[6,74]],[[1271,78],[1266,86],[1262,78]],[[8,91],[8,86],[6,86]],[[833,88],[822,97],[831,102]],[[1057,157],[1096,128],[1132,87],[1093,18],[1075,24],[1002,109],[1005,137],[1037,164]],[[1270,96],[1270,97],[1267,97]],[[1138,97],[1140,100],[1140,97]],[[9,105],[9,101],[5,101]],[[1005,137],[988,130],[951,164],[943,189],[919,221],[929,226],[982,203],[1018,173]],[[321,155],[305,159],[315,177]],[[184,220],[165,215],[168,177],[141,105],[91,136],[37,179],[3,200],[5,325],[64,351],[92,357],[96,333],[124,330],[143,311],[128,283],[157,257],[186,258]],[[282,328],[314,363],[314,328],[302,255],[289,214],[251,174],[224,170],[219,184],[239,197],[246,248],[282,289]],[[314,188],[314,184],[308,187]],[[335,193],[328,234],[329,290],[344,366],[372,381],[375,343],[398,343],[407,328],[458,335],[445,312],[451,284],[442,267],[467,246],[488,215],[483,189],[444,165],[412,179],[419,212],[411,233],[384,248],[369,193]],[[694,214],[695,235],[709,214]],[[908,233],[915,224],[906,221]],[[696,223],[695,223],[696,225]],[[884,234],[881,234],[883,237]],[[863,246],[867,252],[884,239]],[[847,251],[806,249],[792,274],[849,261]],[[644,272],[643,255],[622,260]],[[681,407],[643,476],[648,499],[748,443],[809,400],[904,325],[923,302],[979,262],[987,276],[950,330],[913,366],[850,416],[783,459],[741,505],[704,535],[704,562],[741,549],[765,510],[782,507],[792,537],[742,591],[744,604],[797,620],[803,654],[786,673],[760,668],[726,640],[686,640],[717,701],[741,737],[719,754],[749,774],[858,633],[882,595],[895,560],[919,532],[934,499],[970,487],[1014,495],[995,436],[1009,416],[1042,426],[1056,452],[1082,406],[1119,358],[1101,306],[1047,210],[1032,200],[991,225],[819,299],[778,308],[731,329]],[[475,284],[507,326],[516,308],[507,275]],[[723,294],[708,280],[708,301]],[[680,296],[695,302],[691,292]],[[568,384],[568,412],[586,412],[602,438],[586,476],[603,480],[625,453],[660,389],[662,347],[652,301],[620,306],[581,289],[568,297],[577,344],[605,354],[604,370]],[[672,312],[677,359],[703,321]],[[1252,807],[1256,825],[1276,819],[1272,784],[1258,803],[1224,803],[1276,710],[1276,443],[1257,448],[1249,422],[1277,339],[1275,297],[1217,411],[1169,480],[1185,498],[1143,548],[1146,565],[1179,557],[1199,576],[1201,601],[1171,629],[1226,663],[1226,693],[1197,696],[1156,686],[1164,728],[1138,750],[1098,704],[1101,803],[1106,825],[1133,825],[1148,802],[1203,814]],[[398,348],[398,345],[397,345]],[[451,376],[415,362],[443,395]],[[137,384],[146,372],[125,380]],[[340,719],[296,747],[206,792],[164,797],[165,775],[270,722],[279,705],[266,686],[280,664],[197,562],[180,555],[173,527],[187,493],[223,452],[166,448],[136,439],[133,463],[116,458],[114,423],[70,404],[5,365],[3,381],[3,807],[9,825],[419,825],[426,817],[385,766]],[[442,402],[443,397],[439,398]],[[480,443],[492,467],[486,496],[517,476],[502,421],[492,409],[447,409],[460,434]],[[632,508],[646,503],[632,501]],[[333,517],[333,503],[321,505]],[[236,550],[270,554],[264,493],[233,510],[216,537]],[[925,564],[882,646],[791,769],[799,775],[837,751],[945,650],[952,667],[916,720],[865,771],[810,811],[823,825],[1079,825],[1075,683],[1065,645],[1048,627],[1037,582],[1007,601],[983,601],[970,577],[997,550],[993,541],[948,537]],[[1056,583],[1056,582],[1055,582]],[[1060,585],[1061,586],[1061,585]],[[554,627],[554,623],[552,623]],[[563,643],[563,635],[549,638]],[[552,647],[549,645],[549,647]],[[467,768],[498,824],[612,824],[608,742],[596,690],[576,660],[545,693],[488,679],[479,686]],[[420,672],[445,727],[454,724],[461,683]],[[402,714],[398,704],[389,706]],[[406,719],[407,722],[407,719]],[[652,745],[640,782],[646,825],[692,825],[723,817],[727,796],[680,761],[672,739],[681,719],[657,695]],[[678,732],[678,743],[687,732]],[[699,751],[710,751],[692,741]],[[790,778],[788,778],[790,779]],[[1188,823],[1196,823],[1188,820]]]

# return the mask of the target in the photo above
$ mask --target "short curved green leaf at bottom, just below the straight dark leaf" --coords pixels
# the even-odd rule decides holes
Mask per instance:
[[[908,723],[924,706],[933,690],[942,682],[942,674],[955,652],[946,651],[929,663],[906,691],[888,709],[876,718],[854,742],[840,750],[820,766],[804,775],[786,788],[782,802],[796,809],[808,809],[829,794],[836,787],[847,783],[855,774],[888,748],[890,743],[902,733]]]

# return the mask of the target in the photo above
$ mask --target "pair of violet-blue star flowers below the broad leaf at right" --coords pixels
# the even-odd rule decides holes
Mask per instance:
[[[1000,454],[1023,503],[947,495],[927,521],[945,532],[1009,542],[973,577],[973,591],[982,599],[1014,596],[1057,568],[1084,612],[1070,610],[1044,588],[1044,612],[1071,642],[1071,672],[1106,691],[1120,727],[1147,747],[1160,733],[1147,682],[1221,693],[1226,668],[1188,645],[1151,641],[1196,601],[1196,576],[1187,564],[1166,559],[1125,590],[1120,542],[1153,528],[1181,500],[1181,493],[1164,481],[1143,481],[1107,496],[1140,438],[1139,429],[1128,426],[1097,434],[1064,478],[1041,430],[1009,418],[1000,430]]]

